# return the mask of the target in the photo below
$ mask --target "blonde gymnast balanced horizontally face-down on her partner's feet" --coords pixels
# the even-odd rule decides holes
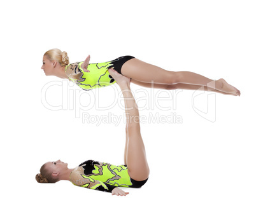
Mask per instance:
[[[90,56],[83,62],[69,64],[66,51],[55,48],[43,55],[41,69],[46,76],[69,79],[83,90],[109,86],[115,83],[108,69],[113,68],[119,74],[131,78],[131,82],[148,88],[166,90],[205,90],[225,95],[240,96],[240,91],[224,79],[212,80],[194,72],[166,71],[132,56],[119,57],[109,62],[90,64]],[[203,88],[201,88],[203,86]]]

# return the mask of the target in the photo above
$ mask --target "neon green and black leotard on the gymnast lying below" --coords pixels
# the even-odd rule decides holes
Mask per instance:
[[[147,180],[133,180],[125,165],[115,166],[93,160],[81,163],[70,174],[70,181],[73,184],[106,192],[111,192],[115,187],[138,188]]]

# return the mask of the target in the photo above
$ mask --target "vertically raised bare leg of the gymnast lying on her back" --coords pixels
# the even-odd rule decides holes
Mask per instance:
[[[140,133],[138,106],[131,93],[130,79],[118,74],[113,69],[109,69],[108,71],[115,81],[117,81],[125,99],[125,116],[127,119],[125,163],[128,173],[134,180],[145,180],[149,175],[149,167],[146,161],[145,146]]]

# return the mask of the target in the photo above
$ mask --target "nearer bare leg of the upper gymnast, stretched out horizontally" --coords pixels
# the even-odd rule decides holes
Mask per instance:
[[[122,74],[131,79],[144,83],[156,84],[193,84],[198,86],[207,86],[214,90],[240,95],[240,91],[228,84],[224,79],[217,81],[208,79],[194,72],[172,72],[166,71],[155,65],[148,64],[137,58],[133,58],[122,66]]]

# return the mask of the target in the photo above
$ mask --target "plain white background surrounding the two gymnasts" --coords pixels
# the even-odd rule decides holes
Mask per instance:
[[[1,200],[255,201],[253,1],[24,0],[0,6]],[[91,62],[133,55],[169,71],[223,77],[241,90],[241,97],[210,92],[193,101],[194,91],[183,90],[176,104],[171,98],[161,101],[171,106],[164,111],[153,101],[144,107],[157,96],[145,88],[149,97],[138,103],[141,116],[176,113],[182,123],[141,123],[150,178],[141,189],[125,189],[130,192],[125,198],[68,181],[38,184],[35,175],[46,161],[60,159],[70,168],[87,159],[124,163],[124,121],[118,126],[83,123],[70,100],[59,111],[42,104],[44,86],[62,82],[40,69],[43,53],[51,48],[67,51],[70,62],[89,54]],[[77,86],[68,88],[79,92]],[[136,98],[143,96],[136,93],[139,86],[131,88]],[[102,88],[97,97],[96,91],[78,94],[76,101],[99,100],[104,107],[117,96],[112,89]],[[174,91],[159,96],[169,95]],[[61,105],[62,86],[48,88],[45,96],[50,104]],[[101,111],[93,105],[83,112],[124,116],[118,104]]]

